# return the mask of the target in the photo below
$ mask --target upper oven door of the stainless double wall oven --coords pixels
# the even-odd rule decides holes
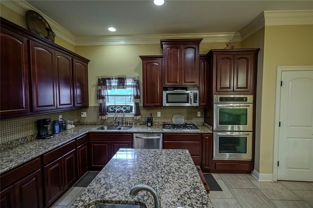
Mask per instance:
[[[252,131],[253,104],[214,104],[214,131]]]

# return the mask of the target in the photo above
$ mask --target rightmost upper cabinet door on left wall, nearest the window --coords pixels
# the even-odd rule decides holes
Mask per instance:
[[[74,106],[88,107],[88,65],[73,59]]]

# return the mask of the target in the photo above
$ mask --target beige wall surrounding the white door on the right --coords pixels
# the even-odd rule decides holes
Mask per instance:
[[[273,173],[277,66],[313,65],[312,48],[313,24],[265,26],[259,173]]]

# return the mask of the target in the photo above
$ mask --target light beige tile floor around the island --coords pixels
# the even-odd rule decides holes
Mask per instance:
[[[250,174],[212,174],[223,191],[210,191],[214,208],[313,208],[313,183],[258,182]],[[69,208],[84,190],[71,187],[52,208]]]

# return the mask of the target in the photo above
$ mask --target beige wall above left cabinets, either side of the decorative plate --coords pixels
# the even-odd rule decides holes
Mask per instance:
[[[9,9],[8,7],[0,4],[0,16],[8,21],[12,21],[13,23],[20,25],[21,27],[27,29],[25,17],[16,13],[15,11]],[[70,44],[69,42],[59,38],[56,34],[55,43],[61,45],[62,47],[75,52],[75,46]]]

